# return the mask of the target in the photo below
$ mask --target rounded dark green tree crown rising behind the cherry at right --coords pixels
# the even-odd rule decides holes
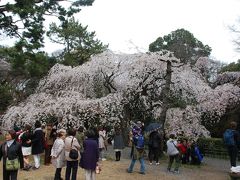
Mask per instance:
[[[192,33],[185,29],[177,29],[171,34],[159,37],[149,45],[150,52],[169,50],[182,63],[194,64],[199,57],[209,56],[211,48],[197,40]]]

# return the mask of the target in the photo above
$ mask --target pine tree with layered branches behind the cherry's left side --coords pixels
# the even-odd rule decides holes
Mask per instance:
[[[64,20],[59,26],[52,23],[47,34],[52,42],[65,46],[61,55],[65,65],[81,65],[91,55],[101,53],[107,48],[107,45],[95,38],[95,32],[88,32],[87,26],[83,27],[74,18]]]

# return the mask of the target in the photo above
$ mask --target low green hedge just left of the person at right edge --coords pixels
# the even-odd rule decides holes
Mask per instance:
[[[228,158],[227,149],[221,138],[199,138],[197,143],[204,156]]]

